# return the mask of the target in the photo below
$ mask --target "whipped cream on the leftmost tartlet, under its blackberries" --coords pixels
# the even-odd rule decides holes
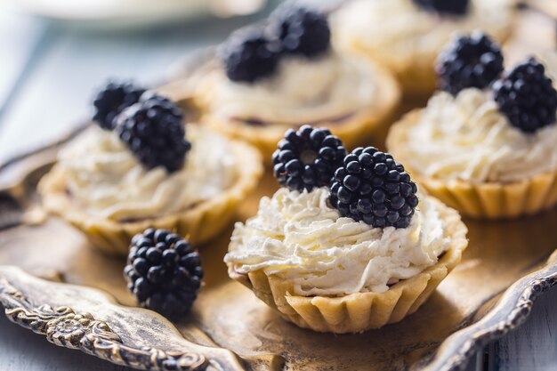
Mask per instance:
[[[88,214],[117,222],[173,214],[219,195],[237,176],[230,141],[198,125],[186,132],[192,148],[174,173],[145,169],[116,133],[96,125],[61,150],[57,166]]]

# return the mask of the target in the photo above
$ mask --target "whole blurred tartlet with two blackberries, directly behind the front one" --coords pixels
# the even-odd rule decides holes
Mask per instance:
[[[252,142],[265,158],[287,128],[304,124],[353,145],[388,121],[400,95],[386,69],[331,46],[324,15],[290,6],[233,33],[187,80],[201,122]]]

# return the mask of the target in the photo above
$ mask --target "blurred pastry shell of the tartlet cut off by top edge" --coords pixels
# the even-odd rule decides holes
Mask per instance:
[[[408,0],[410,3],[412,0]],[[473,3],[473,0],[471,0]],[[351,6],[350,4],[346,5]],[[343,8],[341,8],[339,14],[342,14]],[[418,10],[416,9],[416,12]],[[421,11],[426,12],[426,11]],[[464,15],[466,17],[467,15]],[[432,14],[432,18],[438,17],[436,14]],[[472,31],[471,29],[461,29],[459,28],[458,21],[455,21],[454,28],[446,33],[442,40],[440,40],[439,46],[432,47],[429,50],[420,50],[414,55],[401,56],[400,52],[396,49],[388,47],[370,47],[367,45],[366,40],[363,38],[363,34],[352,34],[348,29],[344,30],[343,22],[345,20],[343,17],[337,16],[335,20],[335,29],[338,37],[336,38],[336,43],[348,51],[357,52],[361,55],[367,56],[370,60],[377,60],[382,63],[383,66],[388,66],[391,69],[392,74],[398,79],[402,92],[408,96],[424,96],[433,93],[437,85],[437,75],[435,74],[435,60],[439,55],[444,44],[448,43],[452,32],[466,32]],[[387,19],[389,17],[386,17]],[[448,18],[450,21],[450,17]],[[417,20],[416,20],[417,21]],[[385,24],[388,27],[388,24]],[[476,28],[482,28],[478,26]],[[510,21],[503,27],[487,29],[490,36],[493,36],[499,43],[503,44],[505,40],[513,31],[513,21]],[[421,42],[423,44],[433,44],[431,41],[424,41],[426,36],[422,37]]]

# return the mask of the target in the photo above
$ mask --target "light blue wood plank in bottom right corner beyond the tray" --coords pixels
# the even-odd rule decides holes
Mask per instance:
[[[494,371],[557,370],[557,289],[537,299],[527,322],[495,344]]]

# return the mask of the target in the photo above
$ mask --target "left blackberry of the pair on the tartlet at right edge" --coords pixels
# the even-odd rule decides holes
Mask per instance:
[[[458,37],[437,61],[440,89],[456,95],[468,87],[488,87],[503,72],[503,54],[488,36]]]

